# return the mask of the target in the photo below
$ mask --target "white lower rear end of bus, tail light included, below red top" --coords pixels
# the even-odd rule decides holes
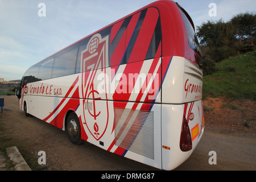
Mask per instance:
[[[162,168],[189,158],[204,132],[202,73],[195,63],[173,56],[162,90]]]

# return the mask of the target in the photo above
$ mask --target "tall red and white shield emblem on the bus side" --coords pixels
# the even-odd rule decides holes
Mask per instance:
[[[96,34],[81,53],[84,124],[96,140],[104,135],[109,122],[106,92],[98,93],[97,88],[94,88],[97,76],[105,73],[108,67],[108,40],[108,36],[102,39],[100,34]]]

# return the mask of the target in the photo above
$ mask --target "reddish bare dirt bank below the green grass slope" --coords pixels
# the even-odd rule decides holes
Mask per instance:
[[[256,138],[256,105],[250,100],[207,98],[205,121],[209,131]],[[256,157],[256,156],[255,156]]]

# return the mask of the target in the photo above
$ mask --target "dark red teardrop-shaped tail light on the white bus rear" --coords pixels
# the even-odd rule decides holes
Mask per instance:
[[[187,119],[183,115],[181,134],[180,134],[180,150],[185,152],[192,149],[192,138],[189,130]]]

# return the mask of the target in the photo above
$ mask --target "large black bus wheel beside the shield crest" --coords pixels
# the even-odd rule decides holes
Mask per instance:
[[[76,113],[70,113],[67,119],[67,134],[73,144],[81,144],[81,127]]]

